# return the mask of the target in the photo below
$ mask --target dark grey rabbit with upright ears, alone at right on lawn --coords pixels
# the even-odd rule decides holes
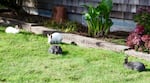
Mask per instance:
[[[145,71],[145,65],[141,62],[128,62],[128,56],[124,59],[124,66],[128,69],[136,71]]]

